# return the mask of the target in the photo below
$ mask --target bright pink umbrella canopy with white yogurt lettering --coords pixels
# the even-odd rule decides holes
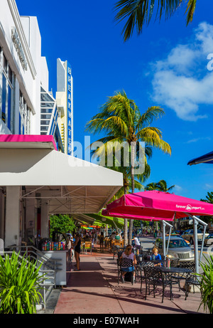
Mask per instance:
[[[126,194],[120,199],[109,203],[102,215],[138,220],[165,220],[192,216],[213,215],[213,205],[204,201],[162,191],[142,191]]]

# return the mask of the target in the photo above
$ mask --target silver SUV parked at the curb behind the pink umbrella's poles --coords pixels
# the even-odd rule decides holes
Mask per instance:
[[[167,248],[168,237],[165,237],[165,248]],[[163,238],[155,240],[155,247],[158,248],[158,253],[163,254]],[[179,258],[180,262],[194,261],[195,255],[185,240],[178,236],[170,236],[170,243],[168,247],[168,255],[173,258]]]

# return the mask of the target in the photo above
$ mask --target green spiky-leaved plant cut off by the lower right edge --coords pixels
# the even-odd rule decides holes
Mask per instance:
[[[200,266],[203,270],[200,276],[200,292],[201,292],[201,305],[203,305],[204,310],[209,314],[213,314],[213,256],[210,255],[209,258],[206,258],[205,263],[200,263]],[[199,307],[199,309],[200,309]]]

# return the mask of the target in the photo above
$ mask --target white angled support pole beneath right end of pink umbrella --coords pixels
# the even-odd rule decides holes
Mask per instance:
[[[190,216],[190,218],[193,218],[194,221],[194,252],[195,252],[195,273],[199,273],[199,262],[198,262],[198,243],[197,243],[197,224],[200,223],[202,226],[204,226],[203,236],[202,236],[202,246],[200,250],[200,260],[202,258],[202,250],[204,245],[204,238],[205,238],[205,232],[207,228],[207,223],[200,220],[200,218],[197,218],[197,216],[192,216],[190,213],[185,213],[187,216]]]

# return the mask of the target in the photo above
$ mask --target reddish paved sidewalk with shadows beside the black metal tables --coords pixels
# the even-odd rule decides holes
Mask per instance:
[[[53,314],[202,314],[200,292],[190,293],[185,300],[185,292],[173,286],[173,300],[170,292],[161,302],[162,289],[159,287],[155,298],[153,294],[145,300],[145,284],[131,282],[118,284],[116,258],[107,251],[92,255],[80,255],[80,271],[73,271],[67,286],[53,291],[57,304],[48,301],[46,313]],[[50,305],[52,302],[52,305]],[[52,306],[52,308],[51,308]],[[55,308],[53,308],[53,306]]]

